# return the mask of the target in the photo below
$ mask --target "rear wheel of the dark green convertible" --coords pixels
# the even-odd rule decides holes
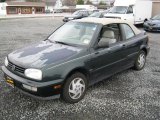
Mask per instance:
[[[135,60],[134,69],[142,70],[146,64],[146,53],[141,50]]]

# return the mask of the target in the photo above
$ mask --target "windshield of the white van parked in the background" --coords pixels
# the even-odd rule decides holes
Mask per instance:
[[[114,6],[109,13],[125,14],[127,12],[127,8],[128,7],[126,6]]]

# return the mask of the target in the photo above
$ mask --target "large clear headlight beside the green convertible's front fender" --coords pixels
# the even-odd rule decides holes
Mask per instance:
[[[42,71],[38,69],[26,69],[24,72],[26,77],[42,80]]]

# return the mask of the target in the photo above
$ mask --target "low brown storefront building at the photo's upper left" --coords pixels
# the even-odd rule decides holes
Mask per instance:
[[[8,0],[0,3],[0,15],[8,14],[42,14],[45,12],[45,2],[27,2],[25,0]]]

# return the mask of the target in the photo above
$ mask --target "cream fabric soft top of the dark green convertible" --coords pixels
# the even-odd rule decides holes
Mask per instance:
[[[88,22],[88,23],[99,23],[99,24],[103,24],[103,25],[112,24],[112,23],[125,23],[125,24],[128,24],[133,29],[133,31],[136,35],[141,33],[140,30],[138,30],[132,23],[130,23],[127,20],[121,20],[121,19],[115,19],[115,18],[83,18],[83,19],[78,19],[78,20],[74,20],[74,21]]]

